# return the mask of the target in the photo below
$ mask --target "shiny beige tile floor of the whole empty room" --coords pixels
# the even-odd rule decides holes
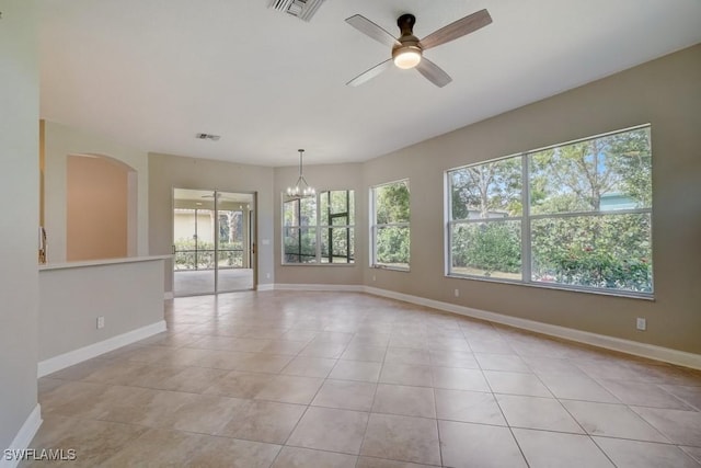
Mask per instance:
[[[363,294],[165,317],[42,378],[32,447],[84,467],[701,466],[700,372]]]

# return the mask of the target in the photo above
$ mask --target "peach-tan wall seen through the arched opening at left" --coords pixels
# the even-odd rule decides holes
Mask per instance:
[[[66,260],[127,256],[128,168],[71,155],[66,171]]]

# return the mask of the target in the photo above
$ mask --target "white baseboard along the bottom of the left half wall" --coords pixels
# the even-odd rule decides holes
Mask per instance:
[[[108,338],[107,340],[89,344],[88,346],[79,347],[78,350],[69,351],[68,353],[59,354],[58,356],[49,357],[48,359],[44,359],[38,363],[37,375],[38,377],[44,377],[57,370],[82,363],[83,361],[114,351],[117,347],[126,346],[127,344],[135,343],[139,340],[143,340],[164,331],[165,320],[160,320],[156,323],[151,323],[150,326],[141,327],[139,329]]]

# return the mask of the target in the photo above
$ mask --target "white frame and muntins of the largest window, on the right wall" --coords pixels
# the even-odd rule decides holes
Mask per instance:
[[[568,145],[574,145],[583,141],[595,140],[598,138],[604,138],[612,135],[624,134],[629,132],[634,132],[639,129],[647,129],[650,135],[650,151],[651,151],[651,169],[652,169],[652,125],[651,124],[642,124],[633,127],[628,127],[619,130],[607,132],[604,134],[579,138],[576,140],[571,140],[566,142],[561,142],[556,145],[550,145],[543,148],[538,148],[529,151],[518,152],[515,155],[509,155],[501,158],[495,158],[486,161],[480,161],[471,164],[464,164],[457,168],[448,169],[444,172],[444,190],[445,190],[445,276],[452,278],[461,278],[461,279],[476,279],[476,281],[486,281],[486,282],[496,282],[496,283],[507,283],[507,284],[519,284],[531,287],[541,287],[549,289],[562,289],[562,290],[574,290],[582,293],[590,293],[590,294],[600,294],[607,296],[617,296],[617,297],[631,297],[631,298],[640,298],[640,299],[648,299],[654,300],[655,297],[655,287],[654,287],[654,263],[653,263],[653,273],[651,275],[651,290],[650,292],[636,292],[631,289],[616,289],[616,288],[604,288],[596,286],[583,286],[583,285],[568,285],[563,283],[549,283],[543,281],[533,279],[532,276],[532,252],[533,252],[533,243],[532,243],[532,224],[533,221],[541,219],[564,219],[564,218],[575,218],[575,217],[604,217],[604,216],[625,216],[625,215],[647,215],[650,218],[650,251],[651,258],[654,256],[654,242],[653,242],[653,204],[654,201],[650,203],[650,206],[642,208],[623,208],[623,209],[597,209],[597,210],[576,210],[576,212],[564,212],[564,213],[541,213],[541,214],[531,214],[531,204],[530,204],[530,162],[531,156],[538,152],[553,149],[566,147]],[[497,162],[512,158],[521,158],[521,216],[506,216],[504,218],[476,218],[476,219],[453,219],[453,190],[452,190],[452,180],[451,173],[460,170],[464,170],[471,167],[478,167],[483,164],[489,164],[492,162]],[[651,172],[651,179],[652,179]],[[652,189],[651,189],[652,190]],[[476,274],[468,274],[468,273],[456,273],[453,271],[453,227],[457,225],[468,225],[468,224],[476,224],[476,222],[502,222],[502,221],[512,221],[519,220],[520,221],[520,278],[504,278],[504,277],[485,277],[483,275]]]

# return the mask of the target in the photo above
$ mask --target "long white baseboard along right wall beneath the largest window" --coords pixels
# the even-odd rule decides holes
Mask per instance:
[[[639,343],[636,341],[623,340],[616,336],[607,336],[605,334],[590,333],[550,323],[537,322],[535,320],[489,312],[486,310],[441,303],[439,300],[426,299],[418,296],[395,293],[393,290],[380,289],[377,287],[365,286],[364,290],[376,296],[403,300],[404,303],[416,304],[418,306],[430,307],[447,312],[502,323],[522,330],[576,341],[578,343],[590,344],[607,350],[619,351],[621,353],[632,354],[640,357],[647,357],[650,359],[701,369],[701,354],[687,353],[685,351],[671,350],[669,347],[656,346],[654,344]]]

